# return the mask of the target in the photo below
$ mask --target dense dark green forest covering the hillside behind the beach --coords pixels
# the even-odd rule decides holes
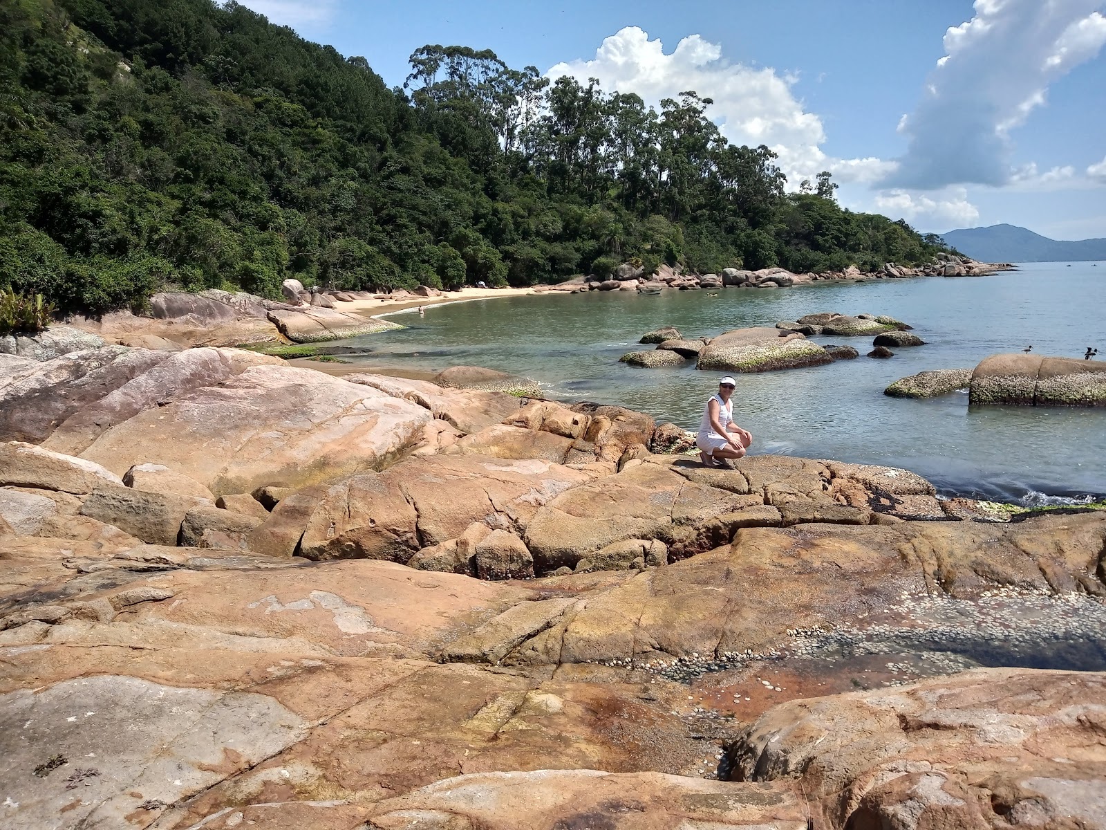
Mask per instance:
[[[932,258],[902,221],[801,191],[693,92],[550,83],[427,45],[389,90],[246,7],[0,0],[0,289],[62,313],[165,286],[278,297],[515,286],[661,261],[699,272]]]

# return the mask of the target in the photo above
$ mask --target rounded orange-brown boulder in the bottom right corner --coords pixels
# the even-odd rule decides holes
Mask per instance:
[[[1106,759],[1081,749],[1100,745],[1103,681],[992,668],[795,701],[750,725],[728,766],[802,776],[815,827],[1103,827]]]

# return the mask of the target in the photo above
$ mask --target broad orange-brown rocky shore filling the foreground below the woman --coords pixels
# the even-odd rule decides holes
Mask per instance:
[[[1106,827],[1106,513],[441,380],[0,354],[6,826]]]

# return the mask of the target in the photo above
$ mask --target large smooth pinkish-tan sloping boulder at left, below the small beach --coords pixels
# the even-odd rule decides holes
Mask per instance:
[[[161,464],[219,496],[302,487],[384,466],[431,414],[309,369],[252,366],[112,426],[83,452],[116,474]]]

